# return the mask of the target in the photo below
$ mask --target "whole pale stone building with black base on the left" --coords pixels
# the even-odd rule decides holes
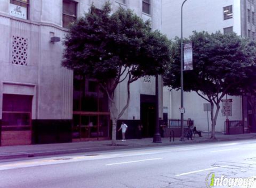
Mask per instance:
[[[105,94],[93,79],[73,75],[61,66],[67,25],[93,3],[106,0],[0,0],[0,127],[1,146],[110,139],[111,121]],[[159,0],[110,0],[133,9],[152,29],[161,27]],[[159,81],[161,84],[161,80]],[[121,109],[125,85],[116,91]],[[159,109],[162,109],[159,90]],[[152,136],[155,79],[131,85],[130,106],[122,116],[134,138],[139,121],[143,135]]]

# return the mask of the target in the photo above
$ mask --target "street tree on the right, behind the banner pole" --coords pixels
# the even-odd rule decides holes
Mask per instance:
[[[220,102],[226,95],[240,95],[250,79],[247,71],[254,64],[255,48],[235,33],[193,32],[185,41],[193,42],[193,70],[184,71],[184,90],[195,91],[211,104],[211,139]],[[172,42],[172,62],[164,74],[164,85],[180,89],[180,39]]]

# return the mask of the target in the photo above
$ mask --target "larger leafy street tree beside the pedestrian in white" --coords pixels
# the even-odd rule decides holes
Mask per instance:
[[[62,65],[76,74],[95,78],[108,96],[112,119],[112,145],[116,145],[117,121],[129,106],[130,84],[144,75],[162,74],[170,61],[170,41],[158,30],[151,31],[132,10],[119,7],[111,13],[109,2],[73,23],[66,35]],[[126,84],[127,99],[118,111],[115,90]]]

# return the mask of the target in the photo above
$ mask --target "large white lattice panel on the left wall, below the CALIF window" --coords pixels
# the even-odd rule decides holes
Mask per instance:
[[[12,63],[16,65],[27,65],[28,39],[13,36]]]

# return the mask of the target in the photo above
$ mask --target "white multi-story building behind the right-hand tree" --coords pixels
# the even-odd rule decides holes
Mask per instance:
[[[162,32],[172,39],[180,37],[181,4],[184,0],[162,0]],[[254,0],[187,0],[183,7],[183,36],[189,37],[193,31],[207,31],[215,33],[235,32],[242,37],[255,40],[255,11]],[[243,122],[246,131],[251,123],[247,113],[247,102],[243,97],[228,96],[232,98],[232,116],[229,120]],[[180,92],[164,89],[164,107],[168,119],[179,119]],[[226,98],[224,98],[226,99]],[[185,119],[191,118],[197,129],[208,131],[207,112],[203,110],[203,103],[207,101],[196,93],[185,93]],[[218,115],[216,131],[224,131],[226,116]],[[256,131],[256,127],[255,131]],[[243,133],[243,129],[240,130]]]

